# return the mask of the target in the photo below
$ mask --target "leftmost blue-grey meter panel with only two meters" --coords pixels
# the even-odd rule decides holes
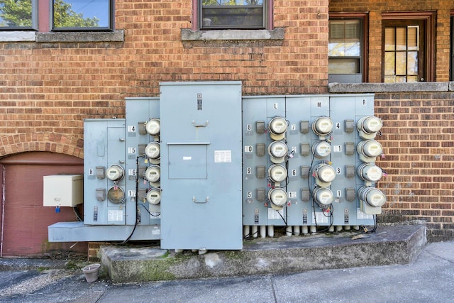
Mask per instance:
[[[126,200],[125,151],[124,119],[84,120],[84,224],[124,225],[135,216]]]

